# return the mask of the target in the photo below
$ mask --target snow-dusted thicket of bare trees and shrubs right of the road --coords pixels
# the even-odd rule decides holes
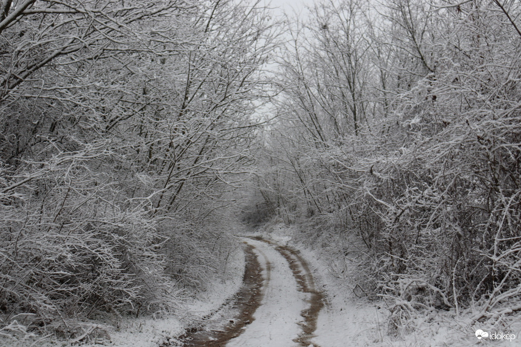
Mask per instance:
[[[432,308],[491,324],[516,314],[519,3],[327,2],[312,13],[281,61],[265,202],[355,260],[345,280],[389,301],[393,332]]]

